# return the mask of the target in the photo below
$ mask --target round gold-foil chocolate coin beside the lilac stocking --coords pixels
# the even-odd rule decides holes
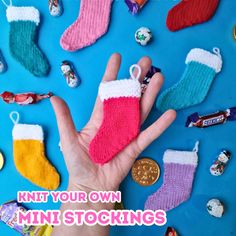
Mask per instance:
[[[133,164],[132,178],[142,186],[154,184],[160,177],[159,165],[150,158],[142,158]]]

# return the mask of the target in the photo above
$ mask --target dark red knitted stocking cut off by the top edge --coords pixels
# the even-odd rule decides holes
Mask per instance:
[[[182,0],[168,13],[166,25],[171,31],[208,21],[215,13],[219,0]]]

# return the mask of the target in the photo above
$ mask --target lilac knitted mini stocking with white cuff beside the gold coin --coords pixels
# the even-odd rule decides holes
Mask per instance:
[[[145,209],[168,211],[189,199],[198,162],[197,152],[198,142],[190,152],[165,152],[163,184],[157,192],[148,197]]]

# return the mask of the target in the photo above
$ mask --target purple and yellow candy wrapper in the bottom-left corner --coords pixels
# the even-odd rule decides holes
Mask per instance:
[[[9,227],[13,228],[24,236],[50,236],[52,226],[21,226],[17,224],[17,214],[19,211],[26,212],[27,210],[17,201],[6,202],[0,206],[0,221],[4,222]]]

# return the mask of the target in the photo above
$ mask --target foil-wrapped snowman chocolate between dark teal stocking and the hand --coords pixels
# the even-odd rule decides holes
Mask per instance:
[[[75,88],[80,85],[81,83],[80,77],[71,62],[63,61],[61,63],[61,71],[69,87]]]

